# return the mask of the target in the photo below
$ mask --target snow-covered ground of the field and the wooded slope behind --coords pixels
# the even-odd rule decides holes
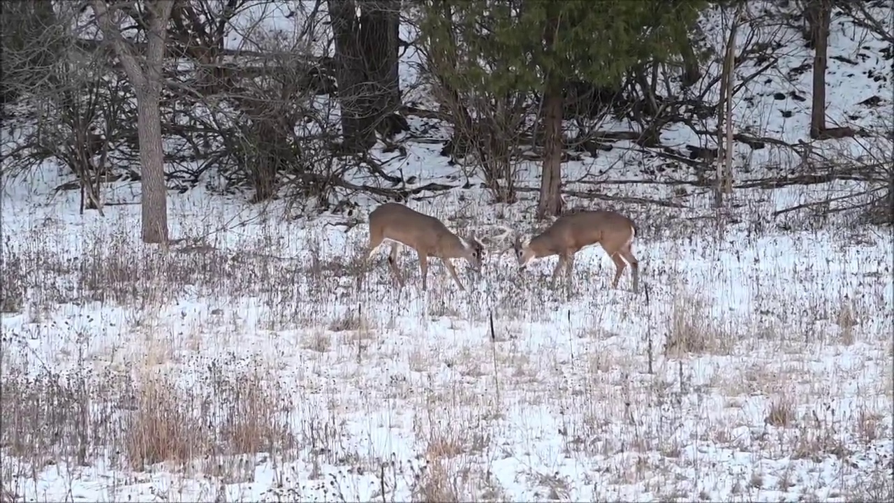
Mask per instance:
[[[872,54],[860,48],[872,41],[837,26],[831,54]],[[809,57],[793,49],[780,72]],[[872,57],[864,66],[890,65]],[[891,96],[869,66],[846,66],[830,61],[830,116]],[[742,90],[737,127],[806,141],[809,72],[798,79],[785,86],[803,103],[774,98],[789,88],[772,79]],[[867,112],[859,124],[877,119]],[[694,140],[671,131],[662,141]],[[440,145],[406,147],[395,173],[457,183]],[[755,178],[795,167],[781,149],[739,153]],[[656,162],[620,142],[563,169],[569,180],[608,168],[631,180]],[[124,204],[100,217],[79,214],[77,193],[54,191],[71,179],[51,165],[27,182],[4,177],[4,501],[894,493],[890,229],[772,217],[853,189],[843,183],[740,189],[722,216],[695,186],[569,183],[677,205],[568,198],[637,222],[637,295],[628,273],[610,288],[614,268],[598,247],[578,253],[570,286],[552,289],[556,258],[520,273],[510,254],[498,257],[499,241],[480,279],[455,261],[467,292],[439,260],[421,292],[405,252],[400,290],[386,249],[365,260],[371,200],[350,217],[293,218],[283,201],[172,192],[171,234],[186,241],[160,249],[139,243],[139,183],[108,185],[104,200]],[[409,205],[460,234],[530,234],[543,226],[534,194],[523,195],[490,205],[480,189],[457,188]]]

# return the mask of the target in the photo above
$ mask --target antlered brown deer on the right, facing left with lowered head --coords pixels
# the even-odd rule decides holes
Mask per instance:
[[[618,287],[618,280],[627,266],[626,262],[629,262],[633,276],[633,291],[637,293],[639,291],[639,261],[631,249],[636,234],[637,228],[633,221],[620,213],[602,209],[579,209],[574,213],[567,213],[556,218],[552,226],[531,238],[527,243],[522,243],[519,233],[516,232],[512,244],[500,255],[513,250],[519,261],[519,270],[527,269],[527,265],[533,260],[559,255],[559,263],[552,270],[550,283],[552,287],[555,286],[556,278],[563,265],[565,276],[570,281],[575,253],[586,246],[599,244],[615,264],[615,276],[611,287]]]

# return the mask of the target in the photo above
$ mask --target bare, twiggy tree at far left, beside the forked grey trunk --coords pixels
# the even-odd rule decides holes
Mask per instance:
[[[2,88],[18,106],[8,109],[3,172],[27,176],[53,160],[76,177],[56,189],[80,189],[81,212],[102,214],[100,186],[119,176],[115,147],[135,139],[136,128],[122,124],[134,124],[136,110],[131,116],[130,86],[109,72],[109,51],[82,38],[95,27],[81,17],[74,2],[4,6]]]

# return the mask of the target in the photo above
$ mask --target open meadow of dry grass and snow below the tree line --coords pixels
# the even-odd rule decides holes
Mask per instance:
[[[877,278],[737,269],[755,294],[732,309],[730,292],[699,286],[713,271],[691,265],[717,249],[678,241],[678,256],[644,259],[648,303],[606,288],[599,250],[570,292],[548,288],[547,262],[524,276],[489,264],[481,285],[463,271],[460,294],[433,260],[423,297],[412,255],[398,291],[384,263],[362,260],[362,232],[280,243],[288,231],[261,229],[169,253],[115,233],[85,240],[78,260],[52,234],[4,249],[4,311],[24,320],[4,331],[7,494],[103,466],[130,477],[114,499],[162,486],[230,500],[835,498],[789,459],[838,463],[842,499],[890,495],[886,467],[865,465],[890,449],[890,379],[848,390],[890,373]],[[778,291],[821,281],[839,290]],[[743,452],[765,461],[733,464],[740,475],[711,465]],[[713,470],[735,482],[698,482]]]

